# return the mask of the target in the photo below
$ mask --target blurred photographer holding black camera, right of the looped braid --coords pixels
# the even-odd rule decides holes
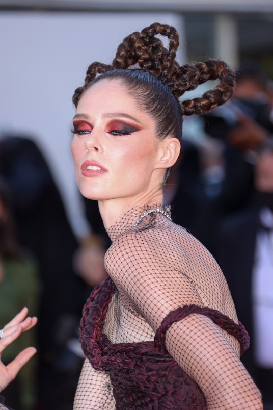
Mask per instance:
[[[215,196],[219,217],[248,206],[254,191],[255,152],[272,139],[272,101],[269,80],[257,64],[248,63],[236,72],[236,88],[227,107],[204,116],[204,130],[222,143],[223,175]]]

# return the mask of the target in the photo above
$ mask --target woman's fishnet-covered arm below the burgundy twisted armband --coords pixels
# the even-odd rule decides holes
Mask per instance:
[[[189,315],[166,334],[166,347],[194,379],[208,409],[262,409],[261,394],[219,327],[202,315]]]

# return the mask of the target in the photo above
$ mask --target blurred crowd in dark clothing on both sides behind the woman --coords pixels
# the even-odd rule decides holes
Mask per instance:
[[[201,119],[185,118],[183,135],[164,200],[173,221],[220,264],[251,337],[242,362],[270,409],[273,85],[261,67],[242,66],[233,98]],[[106,275],[103,256],[110,245],[97,203],[82,200],[91,226],[85,238],[73,233],[39,147],[29,136],[0,135],[0,327],[25,305],[39,320],[6,352],[9,361],[24,346],[38,349],[5,390],[6,404],[16,410],[72,409],[84,360],[81,309]]]

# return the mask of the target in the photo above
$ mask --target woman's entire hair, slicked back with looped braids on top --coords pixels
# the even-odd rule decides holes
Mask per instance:
[[[156,35],[169,38],[169,49]],[[183,114],[204,114],[224,104],[235,87],[235,73],[221,60],[206,60],[180,66],[175,60],[179,35],[174,27],[154,23],[125,37],[111,65],[94,62],[88,67],[85,83],[73,95],[77,106],[81,94],[102,79],[121,79],[140,108],[155,120],[159,139],[182,136]],[[138,64],[140,68],[129,68]],[[97,76],[97,74],[100,74]],[[219,79],[202,97],[180,102],[185,91],[208,80]]]

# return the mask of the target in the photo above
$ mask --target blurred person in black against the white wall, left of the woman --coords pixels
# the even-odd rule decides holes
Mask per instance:
[[[85,285],[73,267],[78,241],[49,167],[31,138],[2,136],[0,175],[10,188],[19,243],[35,260],[41,282],[40,407],[67,409],[72,406],[81,367],[81,359],[69,349],[70,339],[77,337],[85,301]]]

